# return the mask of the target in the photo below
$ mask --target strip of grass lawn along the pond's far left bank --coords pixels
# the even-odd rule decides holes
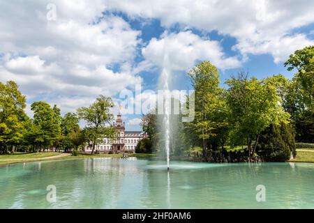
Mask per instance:
[[[70,154],[63,157],[53,157],[56,155],[61,155],[65,153],[54,153],[54,152],[44,152],[44,153],[15,153],[12,155],[0,155],[0,164],[11,164],[17,162],[32,162],[46,160],[45,157],[52,157],[49,160],[75,160],[75,159],[88,159],[88,158],[101,158],[101,157],[111,157],[111,158],[121,158],[122,154],[80,154],[77,156],[72,156]],[[155,154],[142,154],[142,153],[130,153],[130,157],[152,157]]]

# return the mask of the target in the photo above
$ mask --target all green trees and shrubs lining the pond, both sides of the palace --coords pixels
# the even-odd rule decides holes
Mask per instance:
[[[182,115],[171,116],[172,157],[208,162],[285,161],[297,155],[296,145],[313,148],[309,145],[314,143],[314,46],[294,52],[285,66],[295,72],[292,79],[280,74],[257,79],[239,72],[224,83],[208,61],[192,68],[187,75],[195,99],[187,98],[181,107],[194,105],[194,119],[184,123]],[[0,154],[64,151],[80,157],[77,151],[86,144],[91,144],[93,154],[104,136],[113,139],[117,134],[108,125],[113,106],[111,98],[100,95],[89,107],[61,116],[57,105],[38,101],[31,104],[33,118],[29,118],[26,97],[17,84],[0,82]],[[84,129],[80,120],[86,123]],[[164,153],[160,120],[154,112],[143,116],[142,128],[148,137],[137,144],[137,153]],[[297,159],[304,160],[304,153]]]

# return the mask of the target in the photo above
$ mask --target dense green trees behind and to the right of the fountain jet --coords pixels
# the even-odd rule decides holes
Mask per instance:
[[[220,75],[211,63],[191,69],[195,119],[174,125],[174,155],[195,146],[202,148],[202,157],[209,150],[245,146],[249,159],[262,155],[264,160],[287,160],[291,152],[295,155],[294,139],[313,143],[314,47],[298,50],[285,66],[297,71],[292,79],[283,75],[257,79],[240,72],[226,80],[226,89],[219,86]],[[163,137],[156,120],[157,116],[147,114],[142,126],[158,150]],[[172,116],[172,121],[178,120]]]

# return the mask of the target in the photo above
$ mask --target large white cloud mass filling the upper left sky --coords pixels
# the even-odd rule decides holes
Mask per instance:
[[[47,20],[47,3],[57,7],[57,20]],[[140,84],[131,66],[140,31],[104,10],[100,0],[1,1],[0,81],[13,79],[27,98],[66,112]]]

